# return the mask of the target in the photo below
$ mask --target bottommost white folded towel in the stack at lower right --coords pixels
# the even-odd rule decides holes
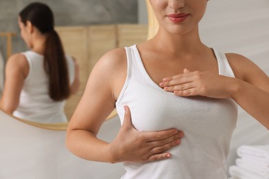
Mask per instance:
[[[266,177],[262,177],[257,175],[252,171],[248,171],[247,169],[242,169],[237,165],[232,165],[229,167],[230,176],[233,178],[240,178],[240,179],[269,179]]]

